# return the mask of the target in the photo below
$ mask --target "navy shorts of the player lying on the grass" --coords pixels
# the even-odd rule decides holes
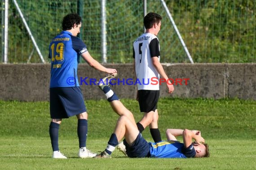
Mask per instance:
[[[141,136],[141,133],[138,134],[132,146],[129,146],[125,139],[124,145],[128,157],[150,157],[150,144]]]

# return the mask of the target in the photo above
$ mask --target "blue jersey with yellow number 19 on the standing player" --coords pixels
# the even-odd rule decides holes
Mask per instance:
[[[79,86],[77,66],[79,55],[86,52],[86,45],[69,31],[62,31],[49,45],[51,59],[51,87]]]

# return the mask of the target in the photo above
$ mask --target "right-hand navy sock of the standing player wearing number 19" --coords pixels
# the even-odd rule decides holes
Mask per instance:
[[[79,139],[79,148],[86,147],[87,132],[88,132],[87,120],[86,119],[78,119],[77,136]]]

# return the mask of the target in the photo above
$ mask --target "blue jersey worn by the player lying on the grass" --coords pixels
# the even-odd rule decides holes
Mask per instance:
[[[158,157],[158,158],[187,158],[187,157],[195,157],[195,149],[193,144],[191,144],[188,148],[184,147],[184,144],[175,141],[161,141],[157,143],[151,143],[150,147],[150,157]]]

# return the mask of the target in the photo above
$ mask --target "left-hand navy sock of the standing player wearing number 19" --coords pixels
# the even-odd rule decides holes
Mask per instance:
[[[51,138],[53,151],[59,150],[59,144],[58,144],[59,127],[60,127],[60,125],[58,123],[54,123],[54,122],[51,122],[50,126],[49,126],[49,134],[50,134],[50,138]]]

